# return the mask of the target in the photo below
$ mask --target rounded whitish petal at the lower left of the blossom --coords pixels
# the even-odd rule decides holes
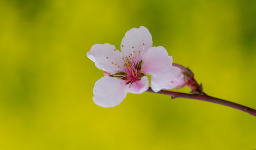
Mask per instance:
[[[115,77],[102,77],[93,87],[92,97],[95,104],[102,107],[114,107],[119,105],[126,96],[124,92],[125,82]]]

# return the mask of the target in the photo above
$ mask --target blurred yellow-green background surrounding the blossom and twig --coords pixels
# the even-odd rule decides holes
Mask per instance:
[[[0,0],[0,150],[256,149],[256,117],[233,108],[148,92],[95,105],[86,52],[141,25],[208,95],[256,108],[255,0]]]

